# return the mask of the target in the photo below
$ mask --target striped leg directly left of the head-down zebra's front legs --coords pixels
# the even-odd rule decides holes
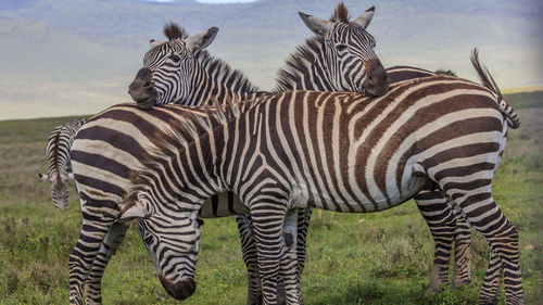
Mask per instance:
[[[241,254],[248,272],[247,305],[260,305],[263,302],[261,277],[251,217],[244,215],[236,215],[235,217],[241,240]]]

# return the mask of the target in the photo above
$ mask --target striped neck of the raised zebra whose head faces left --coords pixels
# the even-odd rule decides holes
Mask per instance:
[[[251,98],[258,91],[240,71],[201,51],[197,54],[201,74],[192,78],[191,94],[184,104],[213,104],[214,99],[224,104]]]

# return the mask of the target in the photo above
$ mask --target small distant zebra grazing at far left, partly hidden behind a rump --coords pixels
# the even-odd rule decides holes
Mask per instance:
[[[67,207],[68,180],[74,176],[70,169],[70,147],[77,130],[85,124],[85,119],[76,118],[56,126],[47,139],[46,155],[48,158],[49,175],[38,174],[41,180],[51,183],[51,200],[54,206],[64,211]]]

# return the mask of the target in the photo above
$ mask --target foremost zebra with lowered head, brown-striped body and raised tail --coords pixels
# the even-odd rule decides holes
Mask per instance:
[[[232,190],[251,214],[264,304],[276,304],[278,275],[295,260],[281,238],[292,211],[378,212],[421,189],[439,189],[491,246],[480,303],[497,303],[503,275],[506,303],[525,304],[518,232],[491,195],[508,125],[520,120],[477,51],[472,61],[484,86],[434,76],[400,82],[377,99],[288,91],[261,97],[248,111],[216,107],[218,120],[193,109],[132,109],[134,115],[175,116],[178,124],[165,131],[154,126],[159,143],[141,167],[130,169],[135,187],[111,207],[113,219],[94,219],[94,226],[132,217],[160,224],[148,227],[144,239],[161,282],[178,296],[191,280],[186,265],[198,254],[193,223],[202,203]],[[182,236],[173,233],[181,228]],[[298,304],[290,271],[282,275],[287,301]]]

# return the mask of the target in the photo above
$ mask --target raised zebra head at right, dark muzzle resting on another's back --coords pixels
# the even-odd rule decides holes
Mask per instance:
[[[374,37],[366,31],[375,7],[353,21],[343,3],[330,21],[299,12],[305,25],[323,41],[321,71],[336,91],[364,92],[382,96],[389,89],[387,71],[377,58]]]

